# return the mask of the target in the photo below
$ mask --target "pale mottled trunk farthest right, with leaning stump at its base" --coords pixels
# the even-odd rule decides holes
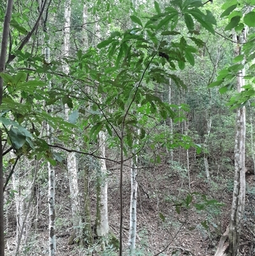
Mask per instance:
[[[242,54],[242,44],[245,42],[246,29],[239,36],[237,55]],[[240,93],[245,85],[245,68],[240,70],[237,77],[237,91]],[[229,256],[237,256],[244,216],[245,204],[245,107],[237,109],[235,134],[235,178],[233,188],[233,201],[230,213],[230,246]]]

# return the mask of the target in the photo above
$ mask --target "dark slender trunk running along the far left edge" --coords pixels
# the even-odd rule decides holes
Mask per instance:
[[[5,62],[8,45],[8,34],[10,29],[13,0],[8,0],[4,17],[4,26],[1,42],[0,73],[5,72]],[[0,105],[3,102],[3,79],[0,77]],[[2,131],[0,130],[0,256],[4,256],[4,181],[3,181],[3,146]]]

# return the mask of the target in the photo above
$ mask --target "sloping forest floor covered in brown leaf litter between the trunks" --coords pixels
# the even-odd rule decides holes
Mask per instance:
[[[137,255],[214,255],[221,234],[229,223],[233,192],[233,166],[222,169],[214,164],[210,170],[211,184],[205,179],[203,158],[195,153],[189,158],[189,179],[186,167],[186,152],[175,154],[178,159],[170,163],[165,156],[157,165],[143,160],[143,168],[138,171],[137,205]],[[191,156],[191,154],[189,154]],[[180,165],[180,162],[183,165]],[[212,163],[211,163],[212,165]],[[110,229],[118,237],[120,220],[120,193],[118,166],[108,162],[108,215]],[[56,169],[56,239],[57,255],[89,255],[89,249],[77,245],[68,245],[71,234],[71,209],[69,200],[68,173],[63,168]],[[254,175],[247,175],[247,193],[244,227],[240,241],[242,255],[254,255],[255,225],[255,187]],[[82,191],[82,171],[80,171],[80,191]],[[94,181],[91,181],[91,188]],[[128,242],[130,169],[124,170],[124,248]],[[48,255],[48,204],[47,183],[38,184],[34,204],[37,205],[37,217],[31,218],[29,243],[20,255]],[[203,195],[206,195],[203,196]],[[81,197],[82,199],[82,197]],[[213,200],[216,199],[217,201]],[[36,208],[36,207],[35,207]],[[15,249],[15,205],[8,208],[8,250],[13,255]],[[34,211],[35,212],[35,211]],[[96,190],[91,189],[91,215],[95,220]],[[32,216],[32,215],[31,215]],[[252,234],[253,232],[253,234]],[[7,248],[6,248],[7,249]],[[90,249],[92,255],[99,255],[100,245]],[[97,253],[98,251],[98,253]],[[162,253],[160,253],[162,252]],[[117,255],[112,249],[104,255]]]

